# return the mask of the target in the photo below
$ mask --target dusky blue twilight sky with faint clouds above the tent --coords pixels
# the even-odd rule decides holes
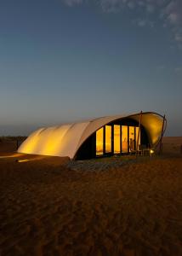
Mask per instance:
[[[140,110],[182,136],[181,0],[1,0],[0,135]]]

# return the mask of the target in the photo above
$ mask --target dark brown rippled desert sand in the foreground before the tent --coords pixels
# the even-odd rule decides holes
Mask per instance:
[[[75,162],[1,153],[0,255],[181,256],[175,139],[151,158]]]

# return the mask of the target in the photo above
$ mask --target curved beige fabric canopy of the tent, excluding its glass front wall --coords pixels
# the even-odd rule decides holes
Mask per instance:
[[[31,133],[26,141],[18,148],[19,153],[43,154],[53,156],[69,156],[71,159],[77,154],[82,143],[100,127],[117,119],[134,119],[139,122],[140,113],[128,115],[106,116],[90,119],[80,123],[41,128]],[[155,147],[162,135],[163,117],[160,114],[142,113],[142,125],[149,137],[151,147]]]

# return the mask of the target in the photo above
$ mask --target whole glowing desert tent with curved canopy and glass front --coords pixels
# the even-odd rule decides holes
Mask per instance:
[[[18,148],[19,153],[43,154],[71,159],[128,154],[139,147],[155,148],[165,131],[166,119],[145,112],[88,119],[40,128]],[[132,147],[131,147],[132,144]]]

